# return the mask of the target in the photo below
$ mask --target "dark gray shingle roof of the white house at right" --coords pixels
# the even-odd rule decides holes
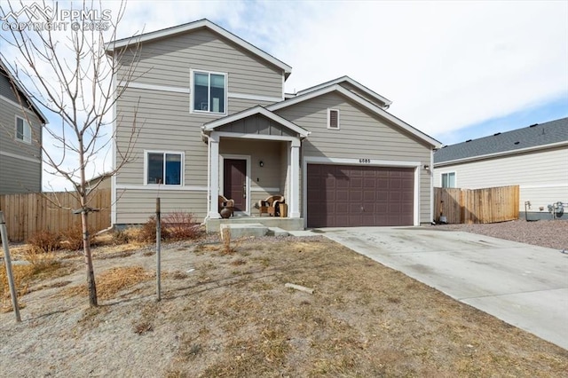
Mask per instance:
[[[547,146],[568,141],[568,118],[536,123],[522,129],[496,133],[490,137],[469,139],[445,146],[434,154],[434,164],[475,158],[488,154],[514,152],[525,148]]]

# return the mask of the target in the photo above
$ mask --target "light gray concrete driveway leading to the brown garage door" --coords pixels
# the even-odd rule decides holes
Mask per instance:
[[[568,254],[436,228],[319,231],[347,248],[568,350]]]

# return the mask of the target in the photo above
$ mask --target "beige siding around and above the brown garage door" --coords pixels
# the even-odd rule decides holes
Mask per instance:
[[[327,129],[327,108],[339,109],[340,130]],[[275,113],[310,130],[302,156],[377,161],[420,161],[430,164],[430,146],[396,125],[351,104],[337,93],[306,100]],[[419,221],[430,222],[430,174],[420,170]]]

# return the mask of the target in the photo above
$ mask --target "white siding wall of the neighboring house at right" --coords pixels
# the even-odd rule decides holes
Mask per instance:
[[[519,185],[519,210],[531,201],[532,211],[548,211],[553,202],[568,202],[567,161],[568,147],[563,146],[445,166],[434,170],[434,186],[441,186],[447,172],[455,172],[456,186],[465,189]]]

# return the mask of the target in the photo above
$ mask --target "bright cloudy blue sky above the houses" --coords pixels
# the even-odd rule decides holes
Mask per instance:
[[[568,116],[566,1],[131,0],[118,35],[202,18],[291,66],[286,91],[349,75],[446,145]]]

